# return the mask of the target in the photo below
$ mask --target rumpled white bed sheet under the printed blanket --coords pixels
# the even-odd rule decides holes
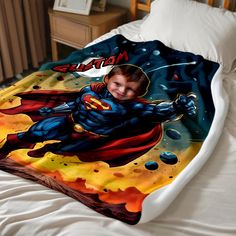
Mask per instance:
[[[141,21],[117,33],[133,41]],[[107,218],[44,186],[0,171],[0,236],[226,236],[236,235],[236,73],[225,75],[230,98],[225,126],[213,154],[168,209],[145,224],[130,226]]]

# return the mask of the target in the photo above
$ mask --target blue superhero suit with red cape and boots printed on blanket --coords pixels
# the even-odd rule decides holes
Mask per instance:
[[[35,94],[40,99],[35,98]],[[35,109],[30,105],[32,95],[38,101]],[[105,83],[91,84],[68,95],[54,91],[26,92],[19,94],[21,106],[1,110],[6,114],[25,113],[38,120],[28,131],[8,135],[1,156],[15,149],[33,148],[37,142],[57,140],[59,142],[29,151],[28,155],[42,157],[52,152],[77,155],[84,162],[124,165],[160,141],[162,122],[178,118],[186,104],[188,107],[190,104],[190,113],[194,107],[191,96],[159,104],[150,104],[144,99],[117,101]],[[62,103],[59,106],[58,101]]]

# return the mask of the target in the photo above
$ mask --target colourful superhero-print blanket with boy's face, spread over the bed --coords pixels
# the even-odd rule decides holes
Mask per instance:
[[[44,64],[0,92],[0,169],[128,224],[155,217],[210,155],[218,68],[122,35]]]

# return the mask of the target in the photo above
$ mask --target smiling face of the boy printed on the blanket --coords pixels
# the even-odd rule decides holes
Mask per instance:
[[[118,100],[126,101],[135,99],[138,96],[139,81],[127,81],[124,75],[113,75],[110,79],[105,77],[108,91]]]

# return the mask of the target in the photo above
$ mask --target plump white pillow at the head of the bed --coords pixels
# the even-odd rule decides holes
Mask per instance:
[[[191,0],[156,0],[140,29],[144,40],[202,55],[232,69],[236,60],[236,13]]]

